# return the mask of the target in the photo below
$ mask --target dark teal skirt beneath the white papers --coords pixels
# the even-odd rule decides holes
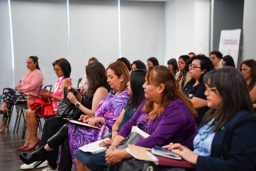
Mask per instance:
[[[105,154],[105,151],[98,154],[92,154],[78,150],[75,153],[75,157],[91,171],[100,171],[107,167]]]

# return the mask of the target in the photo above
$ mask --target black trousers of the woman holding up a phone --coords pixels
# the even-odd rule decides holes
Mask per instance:
[[[55,135],[60,130],[60,128],[62,128],[62,126],[65,123],[66,123],[66,121],[64,119],[59,118],[59,117],[50,117],[50,118],[48,118],[46,120],[46,123],[44,124],[43,134],[42,134],[42,137],[41,137],[39,147],[42,147],[42,146],[46,145],[48,139],[53,137],[53,135]],[[59,154],[59,148],[54,148],[54,150],[51,151],[51,153],[47,157],[49,166],[51,166],[53,168],[57,168],[58,154]]]

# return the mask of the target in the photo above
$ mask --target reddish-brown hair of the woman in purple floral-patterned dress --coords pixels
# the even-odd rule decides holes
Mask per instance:
[[[121,85],[119,87],[119,91],[123,92],[124,90],[126,90],[127,89],[127,83],[130,81],[130,72],[127,69],[127,66],[123,62],[117,61],[117,62],[111,63],[108,66],[107,70],[108,69],[113,70],[114,73],[116,74],[116,76],[118,76],[118,78],[120,78],[120,76],[123,75],[124,79],[121,82]]]

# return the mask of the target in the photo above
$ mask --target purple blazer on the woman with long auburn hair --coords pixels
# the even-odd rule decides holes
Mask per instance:
[[[145,102],[144,100],[132,118],[123,126],[118,135],[127,137],[138,122]],[[192,145],[197,132],[196,122],[190,113],[186,103],[180,98],[170,103],[164,113],[158,119],[151,122],[148,138],[142,139],[135,145],[153,148],[156,145],[162,146],[169,143],[181,143],[182,145]]]

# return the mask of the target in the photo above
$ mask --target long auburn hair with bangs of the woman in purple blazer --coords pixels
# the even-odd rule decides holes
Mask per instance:
[[[175,80],[174,74],[166,67],[166,66],[154,66],[148,69],[146,74],[146,79],[150,85],[159,86],[160,84],[165,85],[165,89],[163,91],[161,104],[155,112],[151,112],[154,108],[154,102],[151,100],[146,101],[142,110],[145,113],[149,113],[147,119],[154,120],[159,118],[160,115],[164,112],[167,105],[172,103],[175,100],[175,97],[183,100],[188,109],[190,110],[192,116],[194,118],[197,117],[196,109],[193,107],[192,102],[188,97],[180,90],[180,86]]]

